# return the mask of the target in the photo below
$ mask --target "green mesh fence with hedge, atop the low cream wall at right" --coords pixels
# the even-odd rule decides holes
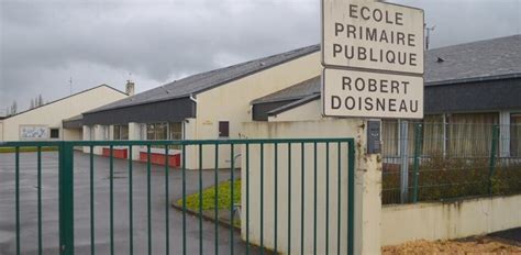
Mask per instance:
[[[384,129],[384,204],[521,193],[519,125],[395,122]]]

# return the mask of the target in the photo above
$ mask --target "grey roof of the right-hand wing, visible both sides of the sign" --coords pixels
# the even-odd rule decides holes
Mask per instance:
[[[521,35],[433,48],[425,53],[425,86],[507,77],[521,78]],[[252,103],[303,99],[320,93],[320,82],[315,77]]]

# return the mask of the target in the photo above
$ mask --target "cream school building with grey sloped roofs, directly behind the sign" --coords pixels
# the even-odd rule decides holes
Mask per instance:
[[[521,123],[520,42],[521,35],[513,35],[425,53],[423,122],[440,123],[424,127],[425,134],[436,137],[431,147],[464,152],[467,145],[451,144],[443,137],[483,134],[483,125],[457,129],[446,124],[490,123],[501,125],[501,155],[520,155],[521,147],[514,142],[521,135],[517,127]],[[86,111],[74,121],[82,126],[86,141],[247,138],[252,134],[243,132],[246,122],[328,119],[321,113],[321,71],[320,46],[313,45],[176,80]],[[397,141],[398,126],[397,120],[384,120],[384,141]],[[398,152],[397,142],[386,146]],[[103,148],[96,153],[102,154]],[[164,162],[164,148],[152,153],[153,160]],[[221,148],[219,167],[230,166],[224,159],[230,158],[229,153]],[[213,149],[204,148],[202,154],[202,167],[213,168]],[[146,148],[128,155],[128,148],[117,147],[114,155],[143,159]],[[168,157],[178,165],[180,149],[173,147]],[[198,168],[197,159],[198,151],[189,148],[187,168]]]

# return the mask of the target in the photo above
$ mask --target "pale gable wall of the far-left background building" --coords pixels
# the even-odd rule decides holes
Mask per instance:
[[[78,137],[77,133],[65,133],[64,136],[64,129],[62,129],[63,120],[79,115],[82,112],[87,112],[125,97],[126,95],[112,88],[100,86],[95,89],[77,93],[74,97],[69,97],[27,112],[20,113],[3,120],[3,140],[19,141],[21,125],[59,127],[59,140],[69,140],[68,135],[76,140]]]

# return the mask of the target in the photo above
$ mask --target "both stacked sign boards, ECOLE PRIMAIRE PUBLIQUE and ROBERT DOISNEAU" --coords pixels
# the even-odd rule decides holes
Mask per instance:
[[[322,19],[324,115],[423,118],[423,10],[322,0]]]

